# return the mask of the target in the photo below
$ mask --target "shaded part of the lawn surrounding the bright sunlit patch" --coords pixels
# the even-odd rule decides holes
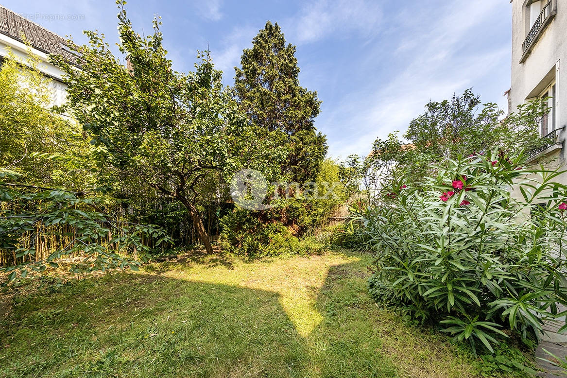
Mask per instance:
[[[0,324],[0,376],[395,377],[349,265],[307,337],[277,292],[225,284],[122,273],[24,298]]]

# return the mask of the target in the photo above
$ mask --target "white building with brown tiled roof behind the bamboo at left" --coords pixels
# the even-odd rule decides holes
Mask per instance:
[[[37,68],[53,79],[50,83],[52,91],[49,105],[63,104],[67,93],[67,85],[62,80],[64,73],[48,62],[48,56],[60,55],[70,62],[76,62],[77,57],[65,45],[64,38],[0,6],[0,61],[10,50],[22,63],[26,63],[29,48],[24,39],[31,45],[31,52],[41,60]]]

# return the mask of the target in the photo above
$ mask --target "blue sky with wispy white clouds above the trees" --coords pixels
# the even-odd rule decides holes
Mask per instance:
[[[117,41],[114,1],[0,1],[75,43],[94,29]],[[154,15],[162,17],[177,71],[192,70],[197,50],[210,49],[226,85],[266,20],[280,24],[297,46],[301,85],[323,101],[315,126],[332,158],[366,155],[376,138],[403,135],[429,100],[467,88],[506,107],[509,0],[131,0],[126,11],[146,34]]]

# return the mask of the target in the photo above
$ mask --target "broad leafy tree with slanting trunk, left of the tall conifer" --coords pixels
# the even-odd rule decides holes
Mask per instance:
[[[136,33],[119,5],[118,48],[131,64],[122,65],[97,32],[81,53],[81,70],[62,57],[53,62],[69,83],[64,109],[73,114],[96,146],[99,172],[128,192],[152,188],[183,203],[202,243],[211,253],[199,206],[210,177],[229,180],[255,148],[235,101],[222,86],[222,73],[208,54],[199,54],[194,72],[178,73],[162,45],[160,22],[153,33]],[[272,150],[268,150],[272,151]],[[217,181],[217,188],[225,188]],[[210,189],[210,188],[208,188]],[[219,189],[220,190],[220,189]]]

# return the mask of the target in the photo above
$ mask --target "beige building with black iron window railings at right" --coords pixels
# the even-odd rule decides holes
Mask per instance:
[[[567,124],[567,0],[511,0],[512,77],[509,111],[536,97],[549,99],[549,116],[540,123],[548,140],[532,151],[530,162],[557,168],[565,162]],[[562,68],[561,65],[564,65]],[[558,180],[567,182],[567,175]]]

